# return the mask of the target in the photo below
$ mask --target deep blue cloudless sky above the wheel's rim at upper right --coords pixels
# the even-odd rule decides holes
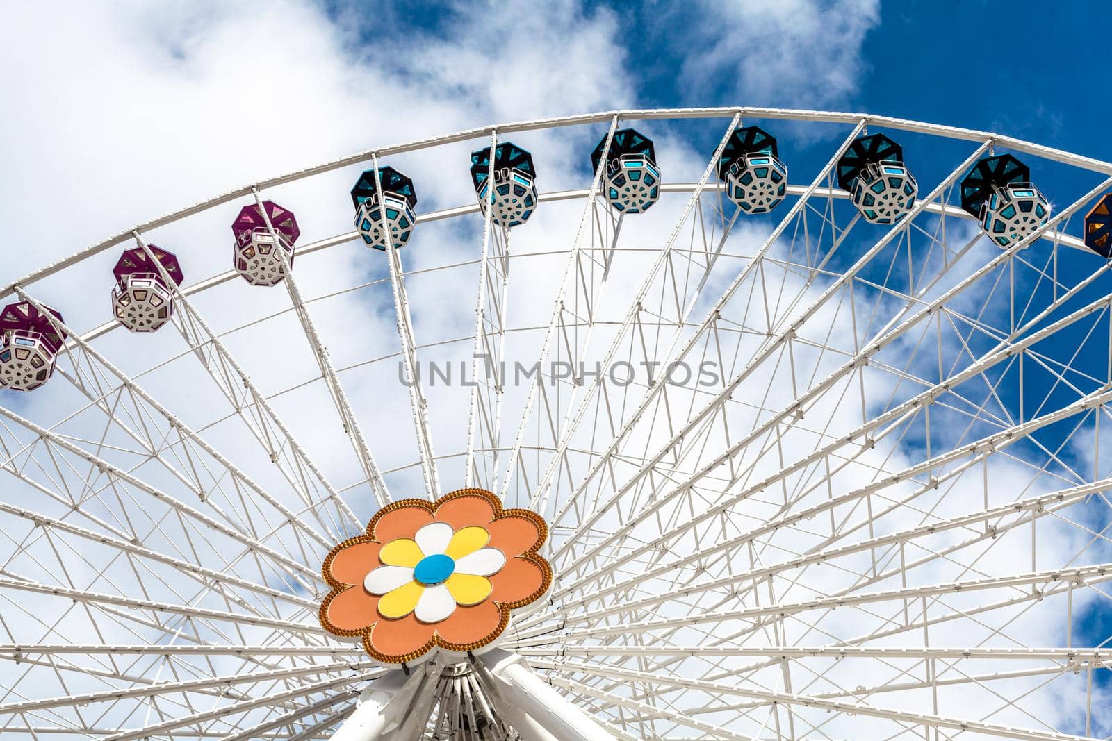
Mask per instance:
[[[647,28],[652,39],[641,96],[651,104],[702,106],[701,91],[677,84],[672,70],[682,66],[707,33],[707,18],[684,23],[681,10],[659,11],[665,3],[616,3],[626,38],[637,39]],[[1086,88],[1108,63],[1105,39],[1110,8],[1099,2],[1068,2],[1046,12],[1045,3],[1016,0],[999,2],[911,0],[878,6],[862,3],[856,21],[844,20],[845,9],[833,3],[833,17],[842,16],[841,29],[816,40],[823,46],[853,44],[861,33],[856,84],[830,102],[844,110],[864,110],[935,123],[1000,131],[1023,139],[1089,154],[1112,158],[1105,136],[1108,99]],[[857,3],[851,3],[857,4]],[[875,9],[871,17],[867,8]],[[754,11],[759,14],[762,11]],[[675,43],[676,27],[686,27]],[[759,30],[759,28],[757,29]],[[840,38],[836,30],[850,31]],[[724,32],[742,34],[744,26]],[[770,47],[776,46],[771,39]],[[632,46],[627,47],[631,49]],[[772,49],[770,49],[772,52]],[[851,54],[852,56],[852,54]],[[846,66],[853,66],[850,59]],[[725,71],[725,66],[723,66]],[[757,72],[759,74],[759,72]],[[847,70],[854,77],[854,70]],[[713,100],[737,102],[729,76],[716,80]],[[836,87],[836,86],[831,86]],[[748,102],[743,99],[743,102]],[[771,89],[761,106],[803,106],[807,101],[792,89]]]

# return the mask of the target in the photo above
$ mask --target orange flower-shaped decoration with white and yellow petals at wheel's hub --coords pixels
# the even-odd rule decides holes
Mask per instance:
[[[361,635],[381,663],[409,663],[436,648],[489,647],[509,624],[510,610],[552,585],[552,567],[537,554],[547,537],[539,515],[504,510],[483,489],[388,504],[367,534],[325,558],[332,590],[320,605],[320,624],[337,635]]]

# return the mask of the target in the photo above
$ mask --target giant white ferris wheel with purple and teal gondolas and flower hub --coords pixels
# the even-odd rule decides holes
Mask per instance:
[[[0,734],[1108,738],[1110,191],[631,110],[7,277]]]

